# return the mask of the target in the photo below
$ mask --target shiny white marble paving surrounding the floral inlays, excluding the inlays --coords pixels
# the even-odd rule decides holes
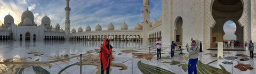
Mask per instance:
[[[98,49],[100,44],[102,42],[86,42],[86,41],[42,41],[42,42],[20,42],[20,41],[0,41],[0,60],[1,62],[6,59],[11,58],[21,58],[21,57],[30,57],[27,59],[27,62],[35,61],[39,59],[39,61],[47,62],[47,61],[53,61],[49,60],[51,57],[57,56],[61,57],[68,55],[68,57],[79,55],[79,54],[85,54],[88,51],[91,51],[94,55],[98,55],[97,51],[94,49]],[[141,43],[141,42],[111,42],[111,45],[113,45],[113,55],[115,55],[115,59],[112,61],[114,63],[122,63],[127,66],[127,69],[125,70],[119,70],[122,69],[121,67],[110,67],[111,72],[110,73],[142,73],[141,70],[138,67],[138,61],[141,61],[142,63],[154,65],[156,67],[169,70],[173,73],[187,73],[187,71],[183,71],[181,67],[178,67],[179,64],[171,65],[170,63],[163,63],[163,62],[172,62],[172,61],[179,61],[180,64],[188,64],[188,61],[186,59],[182,59],[182,57],[188,56],[188,53],[186,50],[183,52],[185,55],[179,55],[180,51],[175,51],[174,57],[172,59],[160,59],[156,60],[157,55],[154,55],[154,57],[151,60],[146,59],[140,59],[135,58],[137,56],[133,56],[133,53],[149,53],[148,49],[149,46],[152,46],[150,48],[151,53],[156,54],[156,49],[154,47],[154,43]],[[121,51],[123,50],[135,50],[138,52],[133,53],[123,53]],[[178,50],[178,49],[177,49]],[[39,52],[39,56],[35,56],[34,54],[28,54],[30,52]],[[235,60],[227,60],[227,59],[217,59],[217,57],[213,57],[214,54],[217,54],[217,51],[206,51],[203,50],[202,53],[199,54],[198,60],[200,60],[202,63],[207,64],[214,60],[218,60],[215,62],[210,63],[212,67],[219,68],[219,64],[223,65],[223,67],[226,69],[226,71],[230,73],[255,73],[256,70],[254,69],[256,67],[256,59],[250,59],[250,52],[249,51],[224,51],[224,56],[235,56],[238,57]],[[207,54],[211,53],[211,54]],[[255,52],[254,52],[255,53]],[[245,57],[242,56],[236,56],[236,54],[244,54],[248,55],[249,60],[247,61],[240,61],[240,59],[244,59]],[[162,57],[170,56],[170,47],[169,46],[163,46],[162,48]],[[254,55],[255,56],[255,55]],[[233,64],[223,64],[222,62],[229,61]],[[52,65],[51,68],[41,65],[41,67],[50,73],[58,73],[60,70],[68,67],[68,65],[74,64],[76,62],[79,62],[79,57],[75,57],[73,59],[70,59],[65,62],[54,62],[50,63]],[[241,71],[237,68],[234,68],[235,65],[238,63],[243,64],[251,64],[252,70],[246,70]],[[4,65],[4,64],[1,64]],[[96,73],[98,71],[97,66],[95,65],[82,65],[82,72],[83,73]],[[0,71],[2,73],[3,71]],[[23,73],[36,73],[32,67],[25,68]],[[67,69],[65,69],[61,73],[79,73],[80,72],[80,66],[79,65],[73,65]]]

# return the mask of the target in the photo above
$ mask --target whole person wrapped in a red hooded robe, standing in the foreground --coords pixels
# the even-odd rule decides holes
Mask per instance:
[[[103,44],[100,46],[100,65],[101,65],[101,74],[107,70],[107,74],[109,74],[109,65],[112,58],[112,48],[110,47],[109,40],[106,38],[103,41]]]

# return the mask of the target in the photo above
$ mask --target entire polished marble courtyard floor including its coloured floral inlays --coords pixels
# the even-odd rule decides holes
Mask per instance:
[[[0,41],[0,73],[99,73],[99,46],[102,42]],[[110,73],[187,73],[188,53],[176,50],[170,58],[170,47],[162,47],[162,58],[156,60],[153,44],[140,42],[111,42],[113,55]],[[149,46],[150,48],[149,54]],[[255,53],[255,52],[254,52]],[[256,59],[249,51],[224,51],[217,59],[217,51],[203,50],[199,54],[197,73],[255,73]],[[255,57],[255,55],[254,55]]]

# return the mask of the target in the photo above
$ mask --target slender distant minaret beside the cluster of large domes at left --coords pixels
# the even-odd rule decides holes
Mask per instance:
[[[69,34],[70,34],[70,20],[69,20],[69,12],[70,12],[70,7],[69,7],[69,0],[66,0],[67,4],[65,7],[66,11],[66,20],[65,20],[65,31],[66,31],[66,40],[69,40]]]

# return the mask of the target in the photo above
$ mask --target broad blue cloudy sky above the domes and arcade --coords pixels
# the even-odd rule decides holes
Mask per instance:
[[[135,24],[142,22],[142,0],[70,0],[70,29],[87,26],[95,30],[99,23],[102,30],[107,30],[108,24],[114,24],[115,29],[121,29],[125,22],[128,29],[134,29]],[[162,14],[162,0],[149,0],[150,22]],[[0,23],[5,15],[12,15],[14,23],[21,22],[21,14],[27,10],[34,14],[39,26],[42,18],[47,15],[53,27],[59,23],[65,30],[66,0],[0,0]]]

